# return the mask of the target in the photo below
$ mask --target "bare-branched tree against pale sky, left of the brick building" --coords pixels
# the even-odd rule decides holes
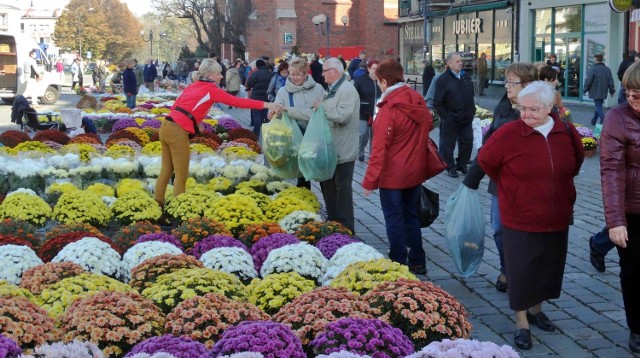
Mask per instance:
[[[236,52],[244,52],[240,40],[244,33],[245,0],[152,0],[164,16],[191,20],[196,40],[207,52],[220,53],[222,43],[231,43]]]

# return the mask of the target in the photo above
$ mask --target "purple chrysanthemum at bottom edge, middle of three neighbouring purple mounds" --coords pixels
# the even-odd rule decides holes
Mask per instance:
[[[282,323],[245,321],[227,329],[212,349],[212,356],[258,352],[265,357],[304,358],[300,338]]]

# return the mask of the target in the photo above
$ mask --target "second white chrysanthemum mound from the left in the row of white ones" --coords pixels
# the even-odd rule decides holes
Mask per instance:
[[[122,279],[120,254],[95,237],[67,244],[51,262],[75,262],[91,273]]]

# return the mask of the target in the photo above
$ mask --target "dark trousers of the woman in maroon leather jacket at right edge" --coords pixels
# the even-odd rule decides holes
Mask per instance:
[[[627,247],[618,247],[620,286],[627,326],[640,334],[640,215],[627,214]]]

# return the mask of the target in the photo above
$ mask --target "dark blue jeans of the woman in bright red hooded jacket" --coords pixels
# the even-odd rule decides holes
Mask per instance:
[[[380,188],[380,204],[389,239],[389,258],[409,265],[425,266],[420,232],[420,185],[408,189]],[[407,250],[408,248],[408,250]]]

